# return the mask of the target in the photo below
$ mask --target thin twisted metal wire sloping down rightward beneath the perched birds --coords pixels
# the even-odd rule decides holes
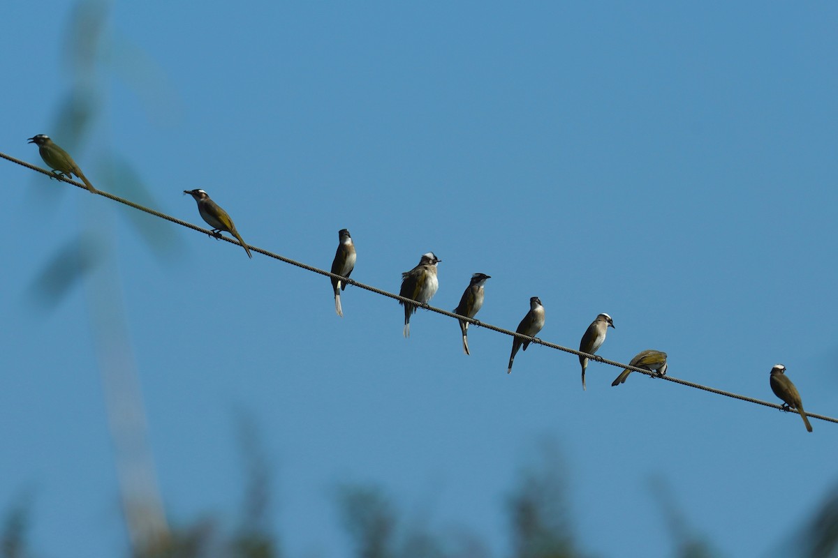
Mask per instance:
[[[3,157],[3,159],[7,159],[8,161],[12,161],[13,163],[17,163],[18,165],[25,166],[29,169],[32,169],[33,171],[42,172],[45,175],[47,175],[48,177],[57,178],[58,180],[62,180],[64,182],[72,184],[75,187],[80,187],[83,190],[88,191],[87,187],[82,182],[76,182],[75,180],[71,180],[70,178],[67,178],[63,175],[61,175],[61,176],[55,175],[51,171],[47,171],[43,168],[40,168],[39,166],[31,165],[28,162],[21,161],[20,159],[16,159],[13,156],[8,156],[3,152],[0,152],[0,157]],[[129,200],[123,198],[123,197],[114,196],[113,194],[108,193],[108,192],[103,192],[102,190],[98,190],[98,192],[96,192],[96,194],[99,195],[99,196],[102,196],[102,197],[107,197],[107,198],[109,198],[109,199],[111,199],[115,202],[123,203],[123,204],[127,205],[128,207],[133,207],[134,209],[138,209],[142,212],[147,212],[151,215],[154,215],[155,217],[166,219],[167,221],[171,221],[172,223],[178,223],[178,225],[181,225],[182,227],[191,228],[191,229],[194,229],[194,230],[198,231],[199,233],[209,234],[210,236],[215,236],[215,238],[220,238],[221,240],[225,240],[226,242],[229,242],[230,244],[235,244],[237,246],[241,246],[241,243],[239,243],[239,241],[235,240],[235,238],[230,238],[230,237],[225,237],[225,236],[216,236],[211,230],[209,230],[207,228],[198,227],[197,225],[194,225],[192,223],[182,221],[178,218],[173,218],[171,215],[167,215],[166,213],[161,213],[161,212],[155,211],[153,209],[150,209],[148,207],[141,206],[140,204],[131,202],[131,201],[129,201]],[[475,320],[473,318],[468,318],[468,317],[463,316],[463,315],[454,314],[453,312],[449,312],[447,310],[442,310],[441,308],[437,308],[435,306],[427,305],[427,303],[419,303],[419,302],[416,302],[416,300],[414,300],[414,299],[408,299],[408,298],[400,296],[398,294],[393,294],[393,293],[387,292],[385,290],[377,289],[377,288],[375,288],[371,285],[368,285],[368,284],[359,283],[358,281],[356,281],[354,279],[349,279],[349,278],[345,278],[345,277],[343,277],[341,275],[338,275],[338,274],[333,274],[331,272],[326,271],[325,269],[319,269],[319,268],[315,268],[313,265],[308,265],[308,264],[303,264],[302,262],[297,262],[296,260],[289,259],[289,258],[286,258],[284,256],[281,256],[278,253],[269,252],[269,251],[264,250],[262,248],[256,248],[256,246],[251,246],[250,244],[248,244],[247,247],[250,248],[251,251],[261,253],[262,255],[265,255],[268,258],[278,259],[279,261],[285,262],[286,264],[296,265],[298,268],[303,268],[303,269],[306,269],[307,271],[312,271],[313,273],[316,273],[316,274],[326,275],[327,277],[331,277],[333,279],[341,279],[345,284],[351,284],[354,287],[358,287],[359,289],[369,290],[370,292],[373,292],[375,294],[380,294],[382,296],[387,296],[387,297],[390,297],[391,299],[396,299],[400,302],[404,302],[404,303],[414,305],[414,306],[416,306],[416,308],[423,308],[425,310],[430,310],[432,312],[436,312],[437,314],[442,314],[442,315],[448,316],[449,318],[456,318],[457,320],[467,321],[471,325],[476,325],[478,327],[484,327],[487,330],[493,330],[493,331],[497,331],[498,333],[502,333],[504,335],[511,335],[512,337],[518,337],[521,340],[528,340],[531,343],[534,343],[536,345],[542,345],[542,346],[550,347],[551,349],[556,349],[558,351],[565,351],[567,353],[571,353],[571,354],[577,355],[577,356],[587,356],[587,358],[590,359],[591,361],[602,362],[603,364],[608,364],[610,366],[617,366],[618,368],[629,369],[631,371],[640,372],[641,374],[645,374],[646,376],[652,376],[654,378],[660,378],[660,379],[665,380],[665,381],[672,381],[676,384],[680,384],[681,386],[694,387],[696,389],[700,389],[700,390],[703,390],[705,392],[715,393],[716,395],[721,395],[721,396],[725,396],[725,397],[732,397],[733,399],[738,399],[740,401],[746,401],[746,402],[750,402],[750,403],[756,403],[757,405],[763,405],[765,407],[773,407],[773,408],[779,409],[781,411],[789,411],[788,407],[785,407],[784,405],[779,405],[777,403],[762,401],[760,399],[755,399],[753,397],[747,397],[747,396],[744,396],[744,395],[739,395],[738,393],[726,392],[724,390],[716,389],[715,387],[703,386],[703,385],[697,384],[696,382],[693,382],[693,381],[682,380],[680,378],[676,378],[676,377],[669,376],[669,375],[660,376],[659,374],[657,374],[653,371],[646,370],[644,368],[639,368],[637,366],[631,366],[629,364],[623,364],[622,362],[618,362],[618,361],[609,361],[607,358],[603,358],[602,356],[590,355],[588,353],[585,353],[585,352],[582,352],[582,351],[577,351],[577,350],[571,349],[569,347],[556,345],[555,343],[551,343],[549,341],[541,340],[537,337],[530,337],[529,335],[523,335],[523,334],[520,334],[520,333],[518,333],[516,331],[513,331],[513,330],[505,330],[504,328],[498,327],[497,325],[486,324],[486,323],[484,323],[480,320]],[[807,417],[820,418],[820,420],[822,420],[822,421],[838,423],[838,418],[827,417],[825,415],[819,415],[819,414],[815,414],[815,413],[812,413],[812,412],[805,412],[805,414],[806,414]]]

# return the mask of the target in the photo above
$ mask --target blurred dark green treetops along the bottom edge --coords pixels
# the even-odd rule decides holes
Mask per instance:
[[[129,552],[132,558],[279,558],[280,538],[272,532],[272,468],[261,451],[252,422],[241,421],[245,490],[240,520],[230,528],[211,516],[189,525],[173,526],[165,540]],[[658,478],[650,493],[660,504],[675,546],[675,558],[720,555],[711,540],[696,534],[671,493]],[[342,484],[335,504],[355,558],[489,558],[488,547],[464,530],[429,530],[422,522],[405,520],[385,490],[375,484]],[[510,558],[577,558],[579,550],[566,499],[566,468],[553,443],[542,446],[535,459],[520,469],[507,497]],[[226,515],[226,514],[225,514]],[[27,504],[10,506],[0,532],[0,558],[29,558]],[[799,533],[781,545],[777,555],[803,558],[838,556],[838,487],[812,514]]]

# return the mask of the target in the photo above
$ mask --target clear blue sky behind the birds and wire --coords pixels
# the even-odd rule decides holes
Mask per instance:
[[[453,309],[489,274],[479,319],[514,329],[539,296],[541,337],[561,345],[608,312],[600,355],[659,349],[672,376],[768,401],[782,362],[805,408],[834,416],[836,16],[828,3],[115,3],[101,105],[73,155],[130,197],[107,172],[118,158],[154,207],[197,224],[182,191],[202,187],[246,242],[321,268],[349,228],[353,278],[381,289],[433,251],[433,305]],[[8,6],[0,151],[40,164],[28,137],[62,143],[69,22],[64,3]],[[456,322],[420,311],[405,340],[395,301],[352,288],[339,319],[322,276],[152,218],[137,228],[132,210],[0,163],[0,505],[32,494],[44,556],[124,545],[99,373],[112,329],[93,310],[108,297],[124,305],[120,354],[169,519],[236,509],[244,411],[275,466],[287,555],[346,555],[333,495],[347,481],[504,555],[504,495],[543,438],[598,555],[670,552],[649,479],[726,555],[776,554],[838,479],[834,424],[807,434],[799,417],[636,375],[611,387],[618,370],[597,363],[582,392],[577,358],[539,346],[506,375],[508,337],[472,329],[464,356]],[[80,231],[115,255],[44,310],[32,284]]]

